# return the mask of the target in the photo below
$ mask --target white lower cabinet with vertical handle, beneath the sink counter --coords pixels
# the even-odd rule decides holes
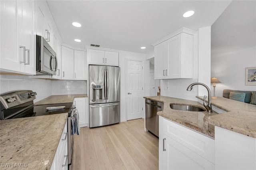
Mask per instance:
[[[214,139],[159,116],[160,170],[214,170]]]

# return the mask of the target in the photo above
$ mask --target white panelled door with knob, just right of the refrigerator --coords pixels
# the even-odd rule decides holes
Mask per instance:
[[[127,120],[142,118],[142,62],[127,60]]]

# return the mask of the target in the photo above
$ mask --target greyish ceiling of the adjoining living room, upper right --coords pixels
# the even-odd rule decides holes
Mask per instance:
[[[232,1],[211,28],[211,56],[256,46],[256,1]]]

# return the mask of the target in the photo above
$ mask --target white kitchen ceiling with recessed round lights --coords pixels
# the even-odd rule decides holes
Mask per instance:
[[[182,28],[211,26],[230,0],[47,0],[65,44],[98,44],[131,52],[152,52],[152,43]],[[182,15],[188,10],[195,14]],[[79,22],[82,27],[72,26]],[[80,39],[82,42],[75,42]],[[140,47],[145,46],[142,50]]]

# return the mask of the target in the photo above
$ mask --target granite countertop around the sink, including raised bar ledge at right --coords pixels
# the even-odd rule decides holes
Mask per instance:
[[[200,106],[202,104],[193,100],[185,100],[166,96],[144,97],[164,103],[163,111],[158,112],[159,116],[182,124],[188,128],[206,134],[214,138],[214,126],[219,126],[246,136],[256,138],[256,105],[238,102],[223,97],[212,97],[212,105],[227,111],[223,114],[208,112],[190,112],[173,110],[170,104],[189,104]],[[203,100],[203,97],[197,97]]]

